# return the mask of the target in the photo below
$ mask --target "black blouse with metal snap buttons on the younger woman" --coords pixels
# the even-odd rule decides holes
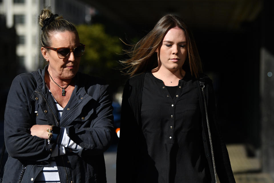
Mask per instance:
[[[199,88],[191,75],[179,80],[175,95],[163,81],[146,73],[142,93],[142,132],[155,162],[158,181],[208,182],[202,141]]]

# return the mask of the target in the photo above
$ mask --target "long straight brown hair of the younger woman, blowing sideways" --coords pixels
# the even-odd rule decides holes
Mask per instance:
[[[198,78],[198,73],[202,72],[202,63],[194,41],[192,33],[184,21],[172,14],[165,15],[155,25],[155,27],[138,43],[130,45],[131,49],[126,51],[129,59],[120,61],[124,65],[126,74],[134,74],[144,71],[151,71],[158,66],[156,49],[164,39],[166,32],[174,27],[180,27],[185,33],[188,45],[188,57],[183,65],[184,69],[189,69],[191,75]]]

